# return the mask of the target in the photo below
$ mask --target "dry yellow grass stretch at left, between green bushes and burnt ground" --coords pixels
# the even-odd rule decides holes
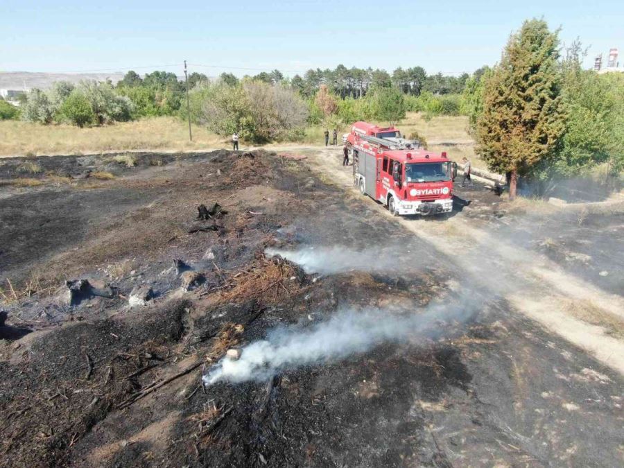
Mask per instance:
[[[80,155],[112,150],[199,150],[227,146],[226,139],[174,117],[120,122],[94,128],[0,121],[0,156]]]

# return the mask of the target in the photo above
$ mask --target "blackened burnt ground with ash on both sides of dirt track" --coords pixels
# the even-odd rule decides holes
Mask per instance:
[[[0,166],[3,466],[623,462],[619,374],[305,160],[37,158],[44,184],[20,189],[23,163]],[[621,236],[621,218],[596,234],[596,218],[575,217],[574,235],[546,242],[548,227],[536,241],[505,224],[517,215],[483,187],[456,202],[456,216],[621,293],[617,254],[559,253]],[[228,349],[244,361],[267,340],[288,344],[281,365],[267,355],[243,381],[202,385]]]

